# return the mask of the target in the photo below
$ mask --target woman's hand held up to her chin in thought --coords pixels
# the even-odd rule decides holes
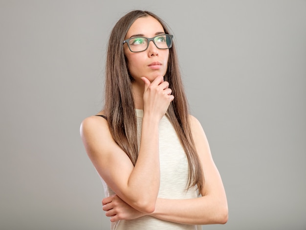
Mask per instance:
[[[171,95],[172,90],[169,83],[164,81],[162,76],[156,77],[151,83],[146,77],[141,78],[145,83],[145,91],[143,94],[144,113],[154,113],[160,119],[166,114],[170,102],[174,96]]]

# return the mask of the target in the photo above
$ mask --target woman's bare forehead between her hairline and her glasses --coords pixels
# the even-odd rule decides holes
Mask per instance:
[[[126,39],[133,35],[142,35],[145,37],[153,37],[156,33],[165,32],[163,26],[152,16],[141,17],[132,23]]]

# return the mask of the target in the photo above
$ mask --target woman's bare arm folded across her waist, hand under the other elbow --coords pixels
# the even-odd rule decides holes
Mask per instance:
[[[218,169],[212,159],[209,144],[204,131],[195,117],[191,116],[191,127],[196,143],[197,152],[202,162],[205,184],[201,191],[201,197],[186,200],[170,200],[157,198],[156,206],[150,215],[181,224],[224,224],[228,219],[227,200],[224,187]],[[112,204],[112,200],[117,197],[108,197],[103,200],[103,210],[106,215],[111,216],[111,221],[122,218],[133,219],[145,213],[121,211],[125,207],[120,200]]]

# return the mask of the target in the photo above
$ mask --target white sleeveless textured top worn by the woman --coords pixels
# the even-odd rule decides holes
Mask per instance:
[[[143,110],[136,109],[137,141],[140,144]],[[160,186],[158,197],[165,199],[197,198],[197,188],[186,190],[188,182],[188,162],[185,151],[176,135],[175,129],[166,116],[159,122],[159,161]],[[115,194],[102,180],[105,196]],[[104,228],[103,228],[104,229]],[[120,220],[111,223],[111,230],[201,230],[197,225],[182,225],[143,216],[134,220]]]

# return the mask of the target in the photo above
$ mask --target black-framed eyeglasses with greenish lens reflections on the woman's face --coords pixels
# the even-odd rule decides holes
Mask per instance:
[[[160,34],[153,38],[134,37],[123,41],[123,44],[128,44],[131,52],[142,52],[149,47],[150,41],[153,41],[159,49],[170,49],[172,47],[173,35]]]

